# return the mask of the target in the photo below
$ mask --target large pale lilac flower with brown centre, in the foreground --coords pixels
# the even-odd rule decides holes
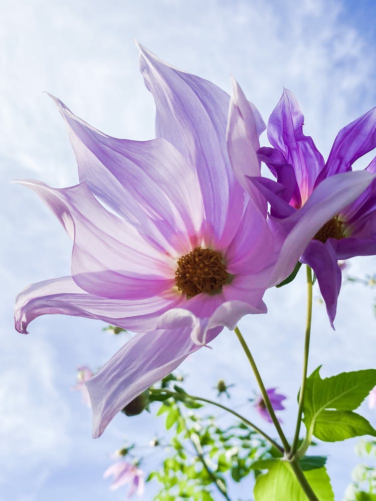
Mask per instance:
[[[278,254],[265,199],[249,197],[230,163],[230,97],[143,48],[140,65],[156,103],[157,139],[107,136],[53,98],[80,183],[22,181],[55,213],[73,253],[71,276],[18,296],[17,330],[26,333],[40,315],[65,314],[141,331],[86,383],[94,436],[223,326],[265,313]],[[252,113],[257,136],[265,124]],[[258,148],[258,136],[253,141]]]

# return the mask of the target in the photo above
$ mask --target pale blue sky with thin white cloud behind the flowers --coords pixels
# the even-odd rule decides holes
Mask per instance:
[[[94,440],[90,409],[71,387],[77,366],[100,367],[125,338],[103,332],[100,322],[63,316],[35,320],[28,336],[13,326],[20,290],[70,270],[71,242],[61,226],[31,191],[9,182],[36,178],[63,187],[78,181],[64,123],[43,91],[107,134],[151,139],[155,108],[138,71],[136,39],[227,92],[233,75],[264,119],[283,86],[292,90],[305,114],[305,134],[327,157],[337,131],[376,105],[376,5],[371,0],[1,0],[1,7],[0,499],[118,501],[126,491],[109,492],[102,479],[109,454],[130,437],[146,445],[158,424],[143,415],[117,416]],[[267,144],[265,137],[262,143]],[[349,273],[373,273],[374,265],[372,257],[354,259]],[[304,335],[301,275],[284,290],[267,291],[268,315],[240,324],[266,385],[288,395],[284,422],[290,435]],[[374,296],[361,285],[343,287],[332,331],[315,290],[310,371],[319,364],[324,376],[374,368]],[[188,387],[194,391],[200,385],[203,394],[214,396],[211,388],[224,378],[237,385],[234,405],[242,404],[256,383],[234,334],[224,331],[212,347],[182,364]],[[252,408],[249,412],[257,421]],[[362,412],[376,426],[374,411],[364,406]],[[356,464],[355,443],[320,446],[329,453],[336,499]],[[153,465],[152,456],[147,464]],[[234,497],[239,492],[250,497],[234,487]],[[151,496],[149,490],[145,499]]]

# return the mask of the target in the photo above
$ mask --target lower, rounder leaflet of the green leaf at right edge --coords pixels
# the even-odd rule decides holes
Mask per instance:
[[[360,435],[376,436],[376,430],[356,412],[324,410],[315,420],[313,434],[324,442],[336,442]]]

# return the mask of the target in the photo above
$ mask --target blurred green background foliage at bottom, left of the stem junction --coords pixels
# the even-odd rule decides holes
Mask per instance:
[[[160,398],[163,390],[166,398]],[[255,477],[259,471],[252,464],[272,457],[265,440],[243,422],[224,427],[215,417],[197,413],[202,404],[177,385],[174,376],[165,378],[160,390],[151,389],[150,401],[161,402],[157,415],[163,416],[170,434],[160,469],[147,478],[161,484],[155,501],[225,498],[229,480]]]

